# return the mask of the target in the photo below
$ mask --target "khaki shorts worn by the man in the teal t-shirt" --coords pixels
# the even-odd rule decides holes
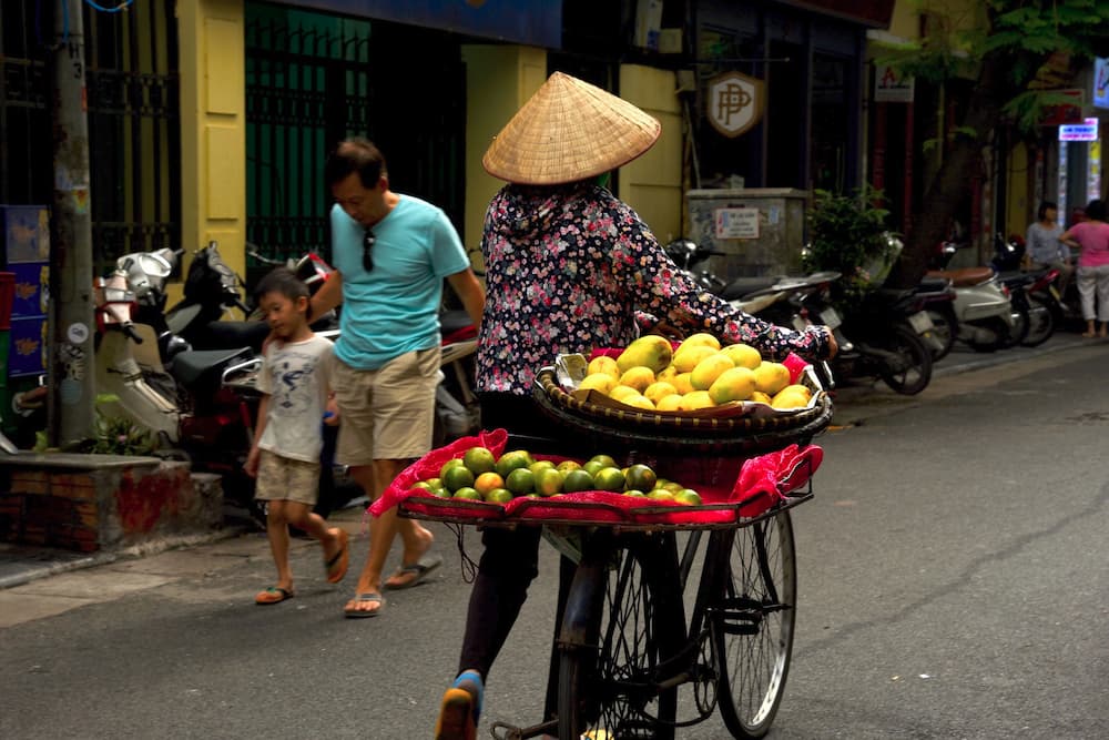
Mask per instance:
[[[421,457],[431,449],[439,347],[407,352],[376,371],[359,371],[336,358],[332,388],[339,407],[335,462]]]

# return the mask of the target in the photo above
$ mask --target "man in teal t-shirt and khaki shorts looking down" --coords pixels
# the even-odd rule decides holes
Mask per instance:
[[[312,298],[318,316],[339,303],[332,387],[342,424],[337,463],[373,500],[431,447],[439,378],[439,304],[442,280],[481,321],[485,290],[470,268],[458,234],[438,207],[389,190],[385,158],[365,139],[342,142],[324,176],[335,199],[332,261],[335,273]],[[385,584],[381,571],[397,533],[400,569]],[[369,556],[348,617],[376,616],[381,587],[415,585],[439,560],[429,558],[430,530],[390,509],[370,523]]]

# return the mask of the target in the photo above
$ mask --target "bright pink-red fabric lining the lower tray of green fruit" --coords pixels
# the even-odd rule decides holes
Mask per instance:
[[[673,501],[635,498],[603,490],[563,494],[552,498],[515,498],[505,506],[484,501],[454,501],[429,496],[413,488],[417,480],[433,478],[448,459],[461,457],[470,447],[488,447],[500,456],[508,434],[505,429],[482,432],[464,437],[434,449],[404,469],[380,498],[369,507],[369,513],[380,516],[405,501],[414,513],[430,517],[472,518],[475,521],[516,518],[521,521],[570,520],[582,524],[671,524],[710,525],[737,521],[755,517],[785,499],[786,494],[805,485],[824,459],[824,450],[815,445],[785,449],[745,460],[730,487],[722,476],[735,476],[733,460],[691,458],[680,469],[662,470],[695,488],[703,506],[683,506]],[[568,459],[553,455],[536,454],[537,459],[561,462]],[[580,462],[580,460],[579,460]],[[737,460],[735,460],[737,463]],[[698,475],[700,472],[701,475]],[[696,479],[694,479],[696,478]]]

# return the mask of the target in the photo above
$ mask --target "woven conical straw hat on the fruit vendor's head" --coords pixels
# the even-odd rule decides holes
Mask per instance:
[[[625,100],[554,72],[494,139],[481,164],[512,183],[554,185],[631,162],[662,125]]]

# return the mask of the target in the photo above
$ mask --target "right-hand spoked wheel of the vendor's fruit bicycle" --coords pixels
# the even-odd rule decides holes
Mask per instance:
[[[718,697],[735,738],[770,730],[785,691],[797,596],[790,513],[712,534],[718,599],[709,619],[720,662]],[[718,566],[720,567],[720,566]]]

